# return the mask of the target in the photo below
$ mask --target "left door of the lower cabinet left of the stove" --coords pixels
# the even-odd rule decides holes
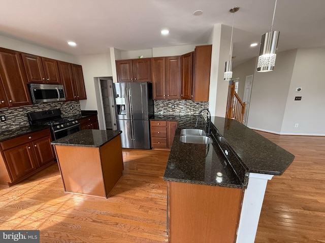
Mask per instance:
[[[10,174],[17,180],[36,170],[34,150],[30,143],[25,143],[4,151]]]

